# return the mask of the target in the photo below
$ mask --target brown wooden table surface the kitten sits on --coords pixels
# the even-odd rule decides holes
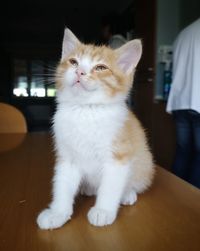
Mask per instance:
[[[200,250],[200,190],[159,167],[151,189],[121,207],[113,225],[91,226],[94,198],[79,196],[70,222],[38,229],[37,214],[50,201],[52,149],[48,134],[0,135],[1,251]]]

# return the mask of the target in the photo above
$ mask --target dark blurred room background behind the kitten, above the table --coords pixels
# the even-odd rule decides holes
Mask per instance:
[[[0,10],[0,102],[19,108],[29,132],[49,131],[55,110],[53,72],[64,28],[83,42],[101,44],[102,20],[116,13],[120,33],[142,38],[144,52],[129,104],[147,130],[155,160],[170,168],[175,149],[172,118],[165,112],[172,44],[200,16],[199,0],[16,0]],[[168,67],[167,70],[170,70]]]

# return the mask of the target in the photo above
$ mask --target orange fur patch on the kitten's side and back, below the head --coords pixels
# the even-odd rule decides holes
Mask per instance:
[[[142,192],[149,187],[155,173],[155,169],[152,168],[152,155],[149,151],[144,129],[132,112],[129,112],[124,127],[114,140],[113,149],[114,158],[123,164],[137,156],[137,159],[133,160],[134,175],[131,177],[130,183],[135,184],[137,192]],[[137,183],[140,183],[141,180],[145,181],[144,186],[137,186]]]

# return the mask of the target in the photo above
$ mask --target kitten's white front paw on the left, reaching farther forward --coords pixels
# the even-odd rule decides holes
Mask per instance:
[[[54,229],[61,227],[70,218],[65,213],[57,213],[47,208],[38,215],[37,224],[41,229]]]

